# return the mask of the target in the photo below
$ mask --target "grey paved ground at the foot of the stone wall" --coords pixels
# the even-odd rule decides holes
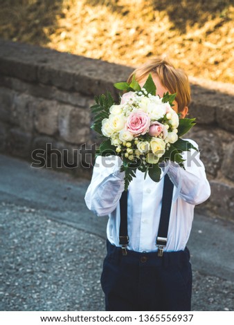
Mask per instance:
[[[105,310],[107,217],[87,209],[88,185],[0,155],[0,310]],[[233,228],[195,215],[192,310],[234,310]]]

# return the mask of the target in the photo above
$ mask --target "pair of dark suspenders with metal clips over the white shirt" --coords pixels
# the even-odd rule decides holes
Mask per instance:
[[[173,183],[168,174],[164,176],[163,198],[161,207],[161,216],[159,222],[159,232],[156,238],[156,246],[158,246],[158,256],[163,256],[163,247],[168,241],[168,225],[170,220],[170,210],[172,206]],[[127,235],[127,192],[123,191],[120,197],[120,230],[119,243],[122,246],[123,255],[127,255],[127,244],[129,237]]]

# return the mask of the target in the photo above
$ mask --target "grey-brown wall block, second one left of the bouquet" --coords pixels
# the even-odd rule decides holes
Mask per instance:
[[[32,106],[35,112],[35,129],[39,133],[45,133],[48,136],[54,135],[58,130],[59,104],[55,100],[35,98]]]

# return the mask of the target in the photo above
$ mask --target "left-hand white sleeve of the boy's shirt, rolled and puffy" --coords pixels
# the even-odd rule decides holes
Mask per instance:
[[[84,201],[89,210],[98,216],[113,212],[124,190],[125,172],[120,171],[122,160],[119,156],[97,156],[93,166],[91,183]]]

